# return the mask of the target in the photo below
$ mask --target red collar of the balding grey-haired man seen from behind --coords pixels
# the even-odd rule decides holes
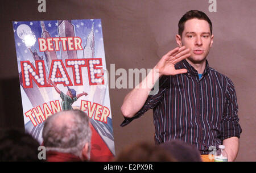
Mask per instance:
[[[59,153],[57,151],[46,152],[47,162],[81,162],[82,160],[76,155],[70,153]]]

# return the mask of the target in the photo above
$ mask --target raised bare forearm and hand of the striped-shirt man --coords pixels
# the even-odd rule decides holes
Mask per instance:
[[[176,70],[174,66],[189,56],[189,49],[185,49],[185,47],[175,48],[165,54],[147,77],[125,96],[121,107],[123,116],[133,117],[143,107],[152,87],[162,75],[187,73],[186,69]]]

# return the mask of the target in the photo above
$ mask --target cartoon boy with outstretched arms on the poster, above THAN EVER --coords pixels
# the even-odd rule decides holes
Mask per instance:
[[[59,88],[57,88],[57,86],[55,85],[54,82],[52,82],[51,79],[48,80],[48,83],[51,83],[51,85],[53,85],[53,87],[55,88],[57,93],[60,94],[60,98],[62,99],[62,110],[63,111],[73,109],[71,105],[74,102],[76,102],[77,99],[79,99],[83,95],[85,95],[85,96],[88,95],[86,92],[82,92],[81,94],[76,95],[76,90],[69,88],[69,87],[68,87],[67,94],[64,94],[64,92],[60,91]]]

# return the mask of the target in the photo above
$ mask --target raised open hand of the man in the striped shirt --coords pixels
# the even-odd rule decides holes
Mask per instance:
[[[191,56],[190,49],[185,47],[177,47],[167,54],[165,54],[161,60],[156,64],[154,69],[159,73],[159,77],[162,75],[176,75],[181,73],[187,73],[187,69],[175,69],[175,64],[185,58]]]

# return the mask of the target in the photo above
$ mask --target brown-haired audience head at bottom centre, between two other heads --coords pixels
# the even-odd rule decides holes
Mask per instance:
[[[114,159],[115,162],[175,162],[164,149],[147,142],[126,146]]]

